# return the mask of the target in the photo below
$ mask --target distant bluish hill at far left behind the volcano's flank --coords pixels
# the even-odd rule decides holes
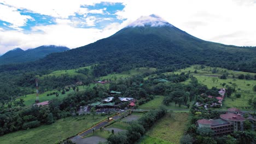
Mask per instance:
[[[55,45],[43,45],[36,47],[35,49],[28,49],[26,51],[20,48],[16,48],[8,51],[0,57],[0,65],[36,61],[37,59],[43,58],[50,53],[62,52],[67,50],[69,49],[65,46]]]

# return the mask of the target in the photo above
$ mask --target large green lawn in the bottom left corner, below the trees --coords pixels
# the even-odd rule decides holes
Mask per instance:
[[[0,143],[57,143],[67,139],[80,131],[90,128],[107,116],[76,116],[59,119],[51,125],[42,125],[38,128],[16,131],[0,137]]]

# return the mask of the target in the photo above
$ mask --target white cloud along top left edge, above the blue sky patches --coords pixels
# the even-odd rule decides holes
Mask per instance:
[[[83,5],[94,5],[101,2],[115,3],[121,2],[121,0],[0,0],[0,3],[11,5],[15,8],[27,9],[34,13],[65,19],[67,19],[68,16],[74,16],[75,13],[88,13],[86,8],[80,8]]]

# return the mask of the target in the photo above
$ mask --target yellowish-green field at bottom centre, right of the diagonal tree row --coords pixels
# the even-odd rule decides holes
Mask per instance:
[[[166,116],[159,119],[159,121],[153,125],[138,143],[179,143],[187,121],[188,113],[167,113]]]

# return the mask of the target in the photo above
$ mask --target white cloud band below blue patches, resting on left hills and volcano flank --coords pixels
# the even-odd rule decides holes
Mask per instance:
[[[73,49],[114,34],[119,25],[112,23],[104,29],[75,28],[70,26],[68,21],[59,20],[57,25],[33,27],[31,34],[0,31],[0,53],[15,47],[26,50],[40,45],[64,45]]]

